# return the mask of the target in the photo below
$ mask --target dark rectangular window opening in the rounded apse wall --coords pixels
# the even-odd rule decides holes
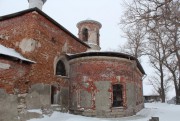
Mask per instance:
[[[121,84],[113,85],[113,107],[123,106],[123,86]]]

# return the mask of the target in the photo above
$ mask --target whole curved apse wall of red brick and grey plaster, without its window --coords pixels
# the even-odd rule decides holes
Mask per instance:
[[[127,59],[108,56],[89,56],[71,60],[70,109],[72,113],[99,117],[135,114],[138,105],[136,97],[142,97],[142,93],[133,89],[139,88],[142,92],[142,84],[140,84],[142,74],[139,75],[137,67],[133,69],[133,64],[133,61]],[[123,85],[123,107],[121,109],[112,107],[112,84],[118,83]],[[81,93],[82,91],[87,93],[86,96]],[[85,99],[81,99],[81,96]],[[142,103],[142,101],[139,102],[139,104]],[[134,112],[130,112],[132,108]]]

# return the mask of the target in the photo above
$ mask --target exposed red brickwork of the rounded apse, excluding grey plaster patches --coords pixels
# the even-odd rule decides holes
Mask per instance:
[[[92,93],[92,107],[90,109],[94,110],[96,108],[94,94],[99,91],[95,86],[95,82],[108,80],[112,85],[120,83],[123,85],[123,107],[126,109],[126,83],[133,83],[140,89],[136,95],[136,100],[138,104],[140,104],[142,103],[142,75],[133,64],[133,61],[103,57],[82,57],[80,59],[73,60],[70,62],[70,82],[72,83],[70,94],[73,94],[73,92],[78,93],[77,90],[84,90]],[[88,83],[88,86],[85,86],[83,84],[84,82]],[[113,100],[112,86],[109,88],[108,92],[111,93],[110,99]],[[82,107],[78,108],[81,109]]]

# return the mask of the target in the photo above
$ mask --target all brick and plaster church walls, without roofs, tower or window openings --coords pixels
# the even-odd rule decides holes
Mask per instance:
[[[36,62],[0,55],[0,93],[7,100],[15,94],[12,102],[18,112],[50,105],[52,87],[61,96],[62,109],[86,116],[127,116],[143,107],[142,74],[134,61],[108,55],[68,60],[69,54],[86,52],[88,46],[40,11],[0,18],[0,44]],[[59,60],[66,75],[56,75]],[[117,83],[123,85],[120,109],[112,107],[112,85]]]

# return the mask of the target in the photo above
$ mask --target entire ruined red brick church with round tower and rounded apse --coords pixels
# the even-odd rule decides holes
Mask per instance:
[[[0,117],[11,120],[30,109],[123,117],[144,107],[139,61],[100,51],[101,23],[77,24],[78,38],[41,11],[46,0],[0,16]]]

